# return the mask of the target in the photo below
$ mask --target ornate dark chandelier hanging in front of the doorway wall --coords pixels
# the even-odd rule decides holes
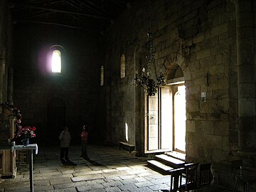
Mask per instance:
[[[149,41],[147,43],[147,50],[146,50],[146,68],[142,68],[142,77],[139,78],[138,71],[135,72],[135,78],[134,78],[134,85],[141,85],[144,88],[144,92],[149,96],[156,95],[156,92],[160,85],[164,86],[166,85],[166,82],[164,80],[164,75],[158,76],[156,73],[156,64],[155,64],[155,58],[153,54],[153,34],[148,33],[147,34]],[[151,65],[154,67],[154,75],[155,78],[152,78],[151,74]]]

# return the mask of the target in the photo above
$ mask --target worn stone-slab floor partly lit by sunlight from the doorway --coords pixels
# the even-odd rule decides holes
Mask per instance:
[[[38,146],[33,162],[34,191],[169,191],[170,176],[163,176],[146,166],[144,158],[138,158],[118,147],[89,146],[90,160],[80,157],[80,146],[70,147],[70,160],[76,166],[63,166],[59,160],[59,148]],[[29,171],[18,170],[16,178],[2,179],[0,191],[29,191]],[[218,191],[220,188],[204,188]]]

